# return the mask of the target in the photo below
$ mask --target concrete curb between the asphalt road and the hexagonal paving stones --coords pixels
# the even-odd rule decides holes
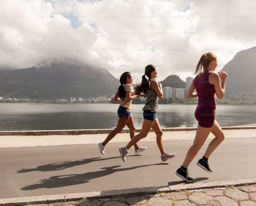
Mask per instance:
[[[162,187],[142,187],[142,188],[108,190],[108,191],[99,191],[99,192],[19,197],[19,198],[0,199],[0,206],[49,204],[49,203],[62,202],[62,201],[81,200],[83,197],[86,197],[88,199],[98,199],[98,198],[103,199],[103,198],[110,198],[112,197],[112,195],[118,195],[120,197],[132,197],[136,195],[152,195],[160,192],[175,192],[177,190],[196,190],[196,189],[205,189],[205,188],[225,187],[228,185],[242,186],[245,184],[253,184],[253,183],[256,183],[256,178],[221,181],[221,182],[209,182],[209,183],[187,183],[187,184],[162,186]]]

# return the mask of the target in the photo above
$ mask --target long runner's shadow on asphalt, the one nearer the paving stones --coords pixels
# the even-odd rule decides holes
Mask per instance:
[[[22,190],[35,190],[35,189],[39,189],[39,188],[56,188],[56,187],[66,187],[66,186],[71,186],[71,185],[83,184],[83,183],[90,182],[88,180],[111,175],[115,172],[133,170],[136,168],[148,167],[148,166],[153,166],[153,165],[169,165],[169,164],[168,163],[157,163],[157,164],[141,165],[141,166],[136,166],[136,167],[122,168],[122,169],[114,169],[116,167],[121,167],[121,165],[112,166],[112,167],[103,167],[101,169],[104,169],[104,170],[100,170],[100,171],[96,171],[96,172],[86,172],[84,174],[52,176],[49,179],[42,179],[41,183],[33,184],[33,185],[30,185],[27,187],[23,187],[21,189]]]

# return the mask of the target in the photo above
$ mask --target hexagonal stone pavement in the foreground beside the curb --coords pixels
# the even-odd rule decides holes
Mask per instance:
[[[256,184],[234,187],[185,190],[156,195],[112,196],[96,200],[37,204],[34,206],[256,206]]]

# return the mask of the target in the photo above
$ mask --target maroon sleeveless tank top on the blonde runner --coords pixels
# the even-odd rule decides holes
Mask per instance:
[[[196,76],[194,86],[198,94],[197,107],[214,107],[216,108],[214,85],[209,82],[209,75],[212,72],[205,72],[201,76]]]

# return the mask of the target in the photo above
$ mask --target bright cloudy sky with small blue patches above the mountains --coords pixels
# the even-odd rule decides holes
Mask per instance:
[[[203,53],[221,68],[256,46],[256,0],[0,0],[0,67],[65,57],[141,81],[192,76]]]

